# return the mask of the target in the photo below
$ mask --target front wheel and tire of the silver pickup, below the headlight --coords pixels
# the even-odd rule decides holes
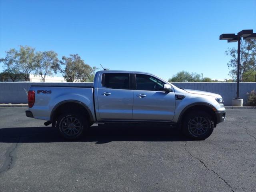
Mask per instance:
[[[189,112],[182,122],[182,132],[194,140],[208,138],[214,129],[213,118],[204,111]]]

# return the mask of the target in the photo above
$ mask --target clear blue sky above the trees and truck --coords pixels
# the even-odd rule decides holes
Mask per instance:
[[[219,36],[242,29],[256,32],[256,0],[0,1],[0,57],[28,45],[166,80],[181,70],[229,78],[224,51],[237,43]]]

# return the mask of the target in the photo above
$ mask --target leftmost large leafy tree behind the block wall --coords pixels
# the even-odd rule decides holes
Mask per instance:
[[[12,48],[0,62],[4,63],[4,68],[8,72],[21,74],[25,81],[29,81],[29,74],[35,70],[34,50],[30,46],[20,46],[19,50]]]

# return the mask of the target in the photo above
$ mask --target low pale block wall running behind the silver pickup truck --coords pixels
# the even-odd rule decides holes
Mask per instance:
[[[236,83],[173,83],[177,87],[202,90],[220,94],[225,106],[231,106],[236,98]],[[31,85],[46,86],[93,86],[93,83],[37,83],[37,82],[0,82],[0,103],[28,103],[27,92]],[[240,98],[246,103],[246,93],[256,90],[256,83],[240,83]]]

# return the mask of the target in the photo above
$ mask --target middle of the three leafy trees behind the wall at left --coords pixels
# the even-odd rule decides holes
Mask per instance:
[[[35,74],[40,75],[42,82],[45,82],[46,76],[52,76],[60,70],[60,62],[57,58],[58,54],[54,51],[36,52],[35,55]]]

